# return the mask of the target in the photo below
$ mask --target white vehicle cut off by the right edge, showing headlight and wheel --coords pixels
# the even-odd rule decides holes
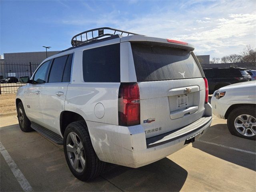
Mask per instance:
[[[228,85],[214,92],[213,114],[227,119],[231,134],[256,139],[256,82]]]

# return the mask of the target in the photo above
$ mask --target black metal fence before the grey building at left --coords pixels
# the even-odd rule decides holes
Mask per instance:
[[[20,76],[32,76],[39,64],[0,63],[0,94],[16,93],[25,83],[18,82]]]

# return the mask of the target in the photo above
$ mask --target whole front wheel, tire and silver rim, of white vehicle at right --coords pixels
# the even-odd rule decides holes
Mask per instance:
[[[234,109],[228,116],[227,124],[232,135],[256,140],[255,107],[244,106]]]

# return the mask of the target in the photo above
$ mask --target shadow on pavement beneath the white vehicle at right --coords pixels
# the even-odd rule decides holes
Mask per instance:
[[[255,152],[256,150],[255,141],[233,136],[228,131],[226,124],[216,124],[211,126],[200,140],[250,152]],[[192,146],[223,160],[251,170],[256,170],[256,156],[254,154],[200,141],[192,143]]]

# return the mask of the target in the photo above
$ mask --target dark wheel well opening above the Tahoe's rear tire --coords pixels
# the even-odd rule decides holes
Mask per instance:
[[[60,132],[62,136],[64,136],[64,132],[68,124],[80,120],[85,122],[84,118],[76,112],[62,111],[60,114]]]

